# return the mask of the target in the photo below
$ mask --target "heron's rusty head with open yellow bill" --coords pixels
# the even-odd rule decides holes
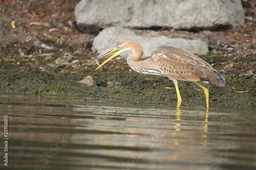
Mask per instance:
[[[99,69],[100,67],[102,67],[105,63],[107,63],[108,61],[110,61],[111,59],[117,57],[119,54],[126,52],[126,51],[130,51],[130,46],[131,46],[131,42],[133,41],[123,41],[120,42],[116,47],[113,48],[113,50],[111,50],[110,52],[98,57],[98,59],[108,56],[110,54],[113,54],[112,56],[110,56],[108,59],[106,59],[102,64],[100,64],[100,66],[98,66],[95,70]]]

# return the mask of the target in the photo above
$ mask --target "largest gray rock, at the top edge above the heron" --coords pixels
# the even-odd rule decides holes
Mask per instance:
[[[75,17],[80,30],[110,26],[216,29],[245,20],[241,0],[81,0]]]

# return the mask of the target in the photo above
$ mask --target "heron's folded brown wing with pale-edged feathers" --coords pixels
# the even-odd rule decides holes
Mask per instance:
[[[184,81],[210,81],[223,86],[220,74],[206,61],[179,48],[161,46],[152,52],[158,67],[171,79]],[[224,78],[223,78],[224,79]]]

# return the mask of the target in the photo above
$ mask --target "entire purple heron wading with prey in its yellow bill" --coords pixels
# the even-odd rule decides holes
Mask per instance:
[[[198,81],[208,81],[219,86],[224,86],[226,83],[225,78],[212,68],[209,63],[192,53],[176,47],[157,47],[152,52],[150,58],[141,61],[143,49],[140,44],[134,41],[123,41],[114,47],[113,50],[99,57],[102,58],[115,53],[100,64],[95,70],[126,51],[131,51],[127,57],[127,63],[133,70],[145,75],[168,77],[174,82],[178,96],[178,108],[180,107],[182,100],[177,80],[192,81],[201,87],[204,90],[207,109],[209,108],[209,92],[208,89],[198,83]]]

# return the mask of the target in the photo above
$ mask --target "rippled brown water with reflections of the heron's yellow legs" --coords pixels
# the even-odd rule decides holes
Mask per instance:
[[[0,144],[0,168],[256,169],[253,111],[2,94],[0,137],[8,115],[9,139],[8,152]]]

